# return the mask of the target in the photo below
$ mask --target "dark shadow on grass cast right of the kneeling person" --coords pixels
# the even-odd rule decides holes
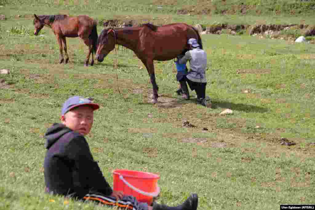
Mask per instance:
[[[264,113],[268,111],[267,108],[260,107],[260,106],[253,106],[253,105],[247,105],[247,104],[234,104],[228,101],[216,101],[212,100],[212,108],[226,108],[231,110],[237,110],[237,111],[244,111],[244,112],[258,112],[258,113]]]

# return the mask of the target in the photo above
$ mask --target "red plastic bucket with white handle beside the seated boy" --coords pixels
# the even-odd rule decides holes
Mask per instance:
[[[153,198],[160,194],[157,186],[160,176],[157,174],[120,169],[113,171],[113,178],[114,190],[134,196],[139,202],[151,205]]]

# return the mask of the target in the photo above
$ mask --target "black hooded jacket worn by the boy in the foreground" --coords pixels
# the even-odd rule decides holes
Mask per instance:
[[[112,188],[94,161],[83,135],[55,123],[47,130],[45,138],[47,153],[44,176],[47,192],[79,199],[91,191],[106,196],[112,194]]]

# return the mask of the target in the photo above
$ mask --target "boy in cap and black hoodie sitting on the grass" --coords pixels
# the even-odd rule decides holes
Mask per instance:
[[[84,137],[91,131],[94,111],[98,108],[99,105],[89,99],[71,97],[63,104],[61,123],[54,123],[45,133],[46,192],[133,210],[196,210],[197,194],[192,194],[177,207],[168,207],[157,203],[148,206],[133,196],[112,190],[94,161]]]

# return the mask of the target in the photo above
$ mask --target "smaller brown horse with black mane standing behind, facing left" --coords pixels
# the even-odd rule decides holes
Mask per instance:
[[[63,49],[66,54],[66,61],[68,63],[69,56],[67,53],[66,37],[80,37],[83,42],[89,47],[89,54],[86,57],[84,66],[88,66],[90,55],[92,53],[91,65],[94,64],[93,52],[96,52],[97,42],[97,29],[96,22],[86,16],[79,15],[75,17],[69,17],[68,15],[36,15],[34,14],[34,35],[38,35],[38,32],[44,27],[48,26],[54,31],[57,41],[59,43],[60,50],[60,63],[64,61],[62,54]]]

